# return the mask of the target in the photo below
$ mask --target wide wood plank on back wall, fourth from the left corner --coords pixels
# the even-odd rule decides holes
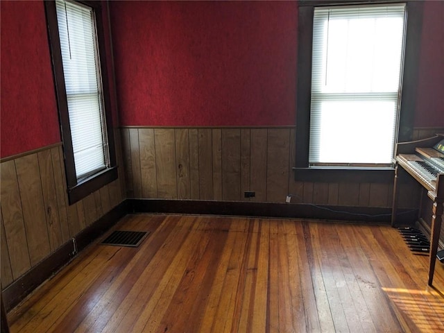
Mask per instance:
[[[157,198],[177,198],[176,148],[173,128],[154,130]]]

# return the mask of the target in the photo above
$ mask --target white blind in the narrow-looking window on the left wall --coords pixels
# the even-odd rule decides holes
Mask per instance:
[[[96,28],[91,8],[56,1],[63,74],[76,177],[85,178],[108,163],[102,110]]]

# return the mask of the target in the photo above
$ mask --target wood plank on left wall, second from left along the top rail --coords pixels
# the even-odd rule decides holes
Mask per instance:
[[[37,154],[17,158],[15,166],[22,198],[29,256],[31,264],[35,265],[51,252]]]

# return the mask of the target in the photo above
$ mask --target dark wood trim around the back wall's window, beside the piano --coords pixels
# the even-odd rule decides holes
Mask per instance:
[[[313,14],[316,6],[341,4],[407,3],[407,33],[404,73],[398,126],[398,142],[411,141],[415,117],[418,65],[422,31],[422,1],[299,1],[298,6],[298,99],[296,111],[295,180],[299,181],[366,181],[393,182],[391,168],[309,168],[309,130],[311,107],[311,49]]]

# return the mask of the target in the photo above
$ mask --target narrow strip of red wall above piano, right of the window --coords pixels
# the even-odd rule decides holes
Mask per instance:
[[[444,1],[425,1],[415,126],[444,126]]]

